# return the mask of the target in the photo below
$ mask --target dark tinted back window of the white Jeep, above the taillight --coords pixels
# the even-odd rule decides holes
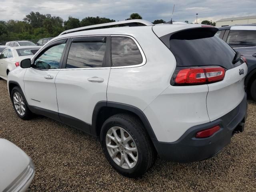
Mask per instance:
[[[226,69],[232,64],[234,51],[215,36],[216,28],[194,28],[172,34],[170,50],[177,66],[222,66]]]

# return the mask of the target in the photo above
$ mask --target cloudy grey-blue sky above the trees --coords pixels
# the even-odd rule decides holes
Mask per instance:
[[[125,20],[131,13],[139,13],[143,19],[170,20],[175,3],[173,19],[189,22],[236,16],[256,15],[256,0],[0,0],[0,20],[22,20],[31,11],[41,14],[85,18],[100,16]]]

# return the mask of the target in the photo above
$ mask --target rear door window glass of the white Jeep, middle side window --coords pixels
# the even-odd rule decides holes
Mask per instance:
[[[72,42],[66,68],[102,67],[105,53],[106,42]]]

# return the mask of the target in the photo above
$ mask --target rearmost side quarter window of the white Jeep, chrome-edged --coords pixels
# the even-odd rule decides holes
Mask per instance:
[[[111,38],[112,66],[142,64],[142,55],[134,40],[128,37]]]

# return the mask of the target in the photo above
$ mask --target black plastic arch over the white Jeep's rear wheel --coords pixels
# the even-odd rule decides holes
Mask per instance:
[[[100,101],[96,104],[92,114],[91,133],[99,136],[104,121],[110,116],[118,113],[129,113],[137,116],[144,125],[144,128],[151,140],[156,139],[156,135],[154,134],[154,131],[142,110],[135,106],[118,102]]]

